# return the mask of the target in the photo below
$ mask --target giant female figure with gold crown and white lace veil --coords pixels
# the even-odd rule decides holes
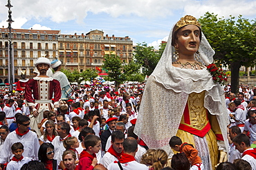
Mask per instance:
[[[223,87],[206,70],[213,55],[200,23],[181,18],[147,81],[135,127],[151,149],[170,151],[170,138],[179,136],[199,150],[205,169],[214,169],[228,149]]]

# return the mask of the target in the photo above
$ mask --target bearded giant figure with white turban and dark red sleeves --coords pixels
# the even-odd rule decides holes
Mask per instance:
[[[40,74],[26,83],[25,98],[33,111],[33,114],[30,115],[30,127],[35,129],[39,135],[37,123],[43,119],[44,111],[53,111],[53,107],[59,105],[61,90],[60,82],[46,75],[47,70],[51,67],[49,59],[40,57],[35,62],[35,67]],[[53,94],[54,106],[52,103]]]

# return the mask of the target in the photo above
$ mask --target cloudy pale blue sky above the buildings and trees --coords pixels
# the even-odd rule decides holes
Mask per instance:
[[[7,0],[0,1],[0,26],[8,26]],[[103,30],[155,47],[185,14],[255,19],[255,0],[11,0],[12,28],[61,30],[62,34]]]

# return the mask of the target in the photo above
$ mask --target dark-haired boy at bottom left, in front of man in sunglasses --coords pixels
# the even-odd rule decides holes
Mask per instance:
[[[11,149],[15,156],[13,156],[12,160],[7,164],[6,170],[19,170],[22,165],[28,163],[30,159],[22,156],[24,145],[22,145],[21,142],[14,143]]]

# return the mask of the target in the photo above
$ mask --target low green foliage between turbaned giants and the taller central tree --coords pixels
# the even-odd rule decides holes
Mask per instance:
[[[77,70],[74,70],[73,72],[69,70],[61,70],[64,74],[66,74],[66,77],[68,78],[68,81],[70,83],[77,82],[79,85],[82,81],[91,81],[92,78],[95,78],[98,76],[97,72],[95,70],[84,70],[83,72],[78,72]]]

